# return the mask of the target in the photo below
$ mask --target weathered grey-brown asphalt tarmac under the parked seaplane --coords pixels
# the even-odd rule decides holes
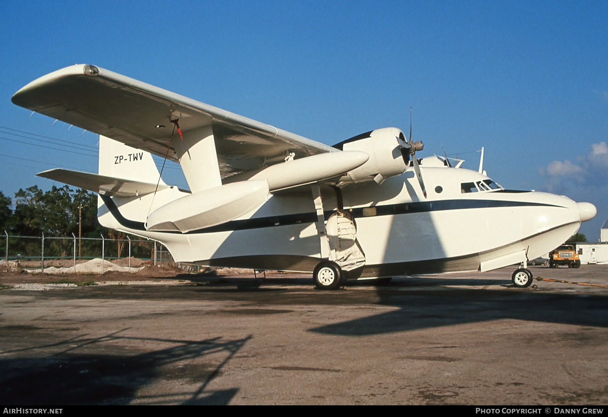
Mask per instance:
[[[5,288],[0,404],[608,404],[608,288],[513,270]]]

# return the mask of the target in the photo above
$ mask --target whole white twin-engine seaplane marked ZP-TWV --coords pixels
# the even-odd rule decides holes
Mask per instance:
[[[409,140],[382,128],[328,146],[85,64],[12,101],[100,134],[98,174],[38,175],[97,192],[102,226],[159,241],[177,262],[312,272],[322,289],[519,264],[513,283],[527,287],[527,261],[596,214],[505,190],[481,167],[418,160],[411,123]],[[179,162],[190,190],[165,184],[151,154]]]

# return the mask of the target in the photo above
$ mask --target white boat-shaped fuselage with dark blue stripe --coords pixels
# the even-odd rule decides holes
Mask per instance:
[[[411,170],[382,184],[321,187],[325,219],[338,209],[348,213],[365,257],[365,265],[347,272],[348,278],[488,271],[526,256],[534,259],[578,230],[580,204],[587,204],[483,184],[471,192],[471,184],[486,184],[489,177],[462,168],[421,170],[427,198]],[[175,187],[160,191],[156,203],[164,201],[163,193],[174,199],[170,195],[180,192]],[[274,193],[242,218],[188,233],[151,232],[125,222],[126,203],[133,198],[113,200],[105,198],[116,204],[113,214],[100,207],[104,226],[160,241],[178,262],[311,272],[322,257],[311,186]]]

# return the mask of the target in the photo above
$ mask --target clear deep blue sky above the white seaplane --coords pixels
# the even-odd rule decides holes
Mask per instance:
[[[420,156],[443,144],[476,169],[479,154],[466,152],[485,146],[485,169],[505,187],[593,202],[598,216],[581,227],[590,240],[608,219],[606,1],[0,5],[0,190],[10,197],[50,188],[38,171],[96,171],[95,151],[71,145],[95,147],[94,134],[10,102],[41,75],[90,63],[328,144],[407,130],[412,105]],[[9,129],[66,146],[28,145]]]

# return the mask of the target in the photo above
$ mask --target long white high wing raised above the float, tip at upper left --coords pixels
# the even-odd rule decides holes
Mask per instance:
[[[339,151],[87,64],[44,75],[16,92],[12,101],[162,157],[167,154],[173,131],[171,120],[178,120],[184,132],[211,126],[222,177],[283,162],[291,153],[299,159]],[[177,161],[173,146],[168,158]]]

